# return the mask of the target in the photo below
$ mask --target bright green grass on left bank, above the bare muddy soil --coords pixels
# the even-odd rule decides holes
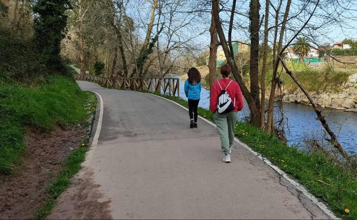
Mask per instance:
[[[0,174],[12,174],[25,150],[25,126],[48,131],[87,118],[89,94],[63,76],[50,76],[36,87],[0,79]]]

